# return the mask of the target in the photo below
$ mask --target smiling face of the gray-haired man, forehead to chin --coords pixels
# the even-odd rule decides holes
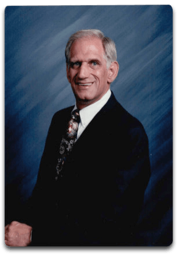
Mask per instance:
[[[104,49],[99,38],[79,38],[72,44],[67,78],[78,108],[93,104],[103,97],[110,88],[110,83]]]

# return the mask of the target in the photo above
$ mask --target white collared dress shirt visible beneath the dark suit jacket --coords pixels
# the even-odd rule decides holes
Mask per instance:
[[[89,125],[89,123],[96,116],[96,114],[101,110],[101,108],[103,108],[103,106],[106,104],[110,96],[111,96],[111,90],[109,89],[107,93],[104,94],[104,96],[101,99],[99,99],[99,101],[96,101],[95,103],[89,106],[86,106],[85,108],[82,108],[79,111],[81,121],[79,122],[79,126],[78,126],[77,139],[81,136],[86,126]],[[76,103],[72,111],[74,111],[75,109],[77,109]]]

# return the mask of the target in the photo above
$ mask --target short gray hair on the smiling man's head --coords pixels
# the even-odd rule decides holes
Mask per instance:
[[[101,39],[103,44],[105,55],[107,62],[107,69],[110,67],[111,62],[117,61],[117,51],[115,48],[114,41],[111,40],[109,37],[105,37],[103,32],[98,29],[83,29],[79,30],[76,33],[72,34],[67,42],[65,56],[66,56],[66,63],[69,66],[70,63],[70,49],[72,44],[82,37],[98,37]]]

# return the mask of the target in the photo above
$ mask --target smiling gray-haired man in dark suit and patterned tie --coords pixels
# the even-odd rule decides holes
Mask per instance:
[[[150,161],[143,126],[110,91],[115,44],[78,31],[66,63],[76,104],[53,116],[27,211],[5,227],[5,243],[27,246],[32,231],[40,246],[132,244]]]

